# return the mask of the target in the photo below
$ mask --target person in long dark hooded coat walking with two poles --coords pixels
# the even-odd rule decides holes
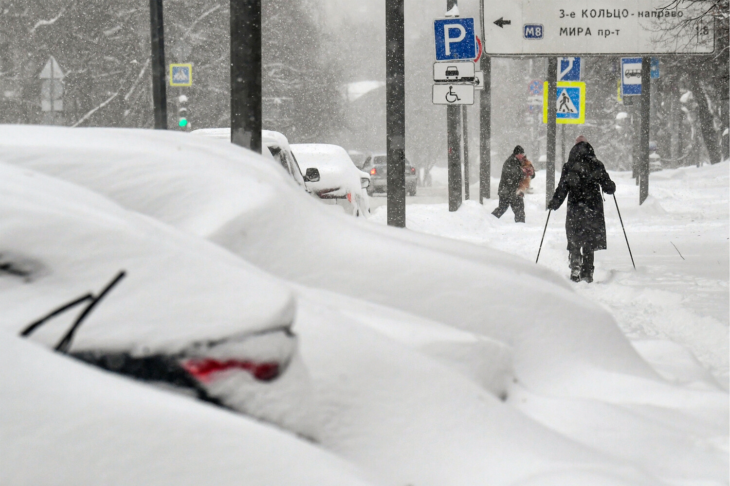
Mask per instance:
[[[613,194],[616,184],[596,158],[593,147],[584,136],[576,139],[548,209],[560,208],[568,198],[565,232],[568,238],[570,279],[574,282],[593,281],[593,252],[606,249],[606,222],[603,197]]]

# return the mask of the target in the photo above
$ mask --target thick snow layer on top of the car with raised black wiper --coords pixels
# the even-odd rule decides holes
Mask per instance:
[[[56,307],[126,277],[77,332],[73,349],[180,350],[191,342],[289,326],[291,292],[201,238],[120,208],[88,189],[0,163],[3,326],[17,334]],[[33,334],[58,342],[80,310]]]

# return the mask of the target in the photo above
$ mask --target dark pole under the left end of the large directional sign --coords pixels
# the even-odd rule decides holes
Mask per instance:
[[[484,39],[484,0],[479,2],[479,20]],[[489,199],[491,193],[491,104],[492,63],[482,52],[480,66],[484,73],[484,89],[479,95],[479,203]]]

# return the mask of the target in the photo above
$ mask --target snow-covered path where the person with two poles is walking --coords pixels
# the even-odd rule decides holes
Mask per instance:
[[[411,230],[486,244],[534,261],[545,225],[545,171],[526,196],[526,224],[512,211],[495,219],[497,200],[473,199],[447,211],[445,169],[434,187],[407,197]],[[666,378],[691,383],[709,371],[729,386],[729,164],[652,173],[650,197],[638,205],[630,173],[611,173],[637,270],[631,267],[615,203],[605,207],[607,251],[596,252],[596,281],[575,290],[610,309],[634,346]],[[440,180],[444,179],[444,180]],[[492,180],[496,195],[498,179]],[[472,198],[478,197],[477,185]],[[385,224],[383,196],[371,198],[371,221]],[[568,276],[565,205],[550,216],[540,265]],[[688,353],[689,351],[690,353]],[[702,364],[694,359],[696,358]]]

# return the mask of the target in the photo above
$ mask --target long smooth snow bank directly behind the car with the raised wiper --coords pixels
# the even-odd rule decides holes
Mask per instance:
[[[611,315],[549,270],[332,214],[239,146],[164,130],[4,125],[0,147],[11,162],[210,238],[275,275],[500,340],[531,389],[581,396],[585,382],[573,377],[583,365],[658,379]]]

